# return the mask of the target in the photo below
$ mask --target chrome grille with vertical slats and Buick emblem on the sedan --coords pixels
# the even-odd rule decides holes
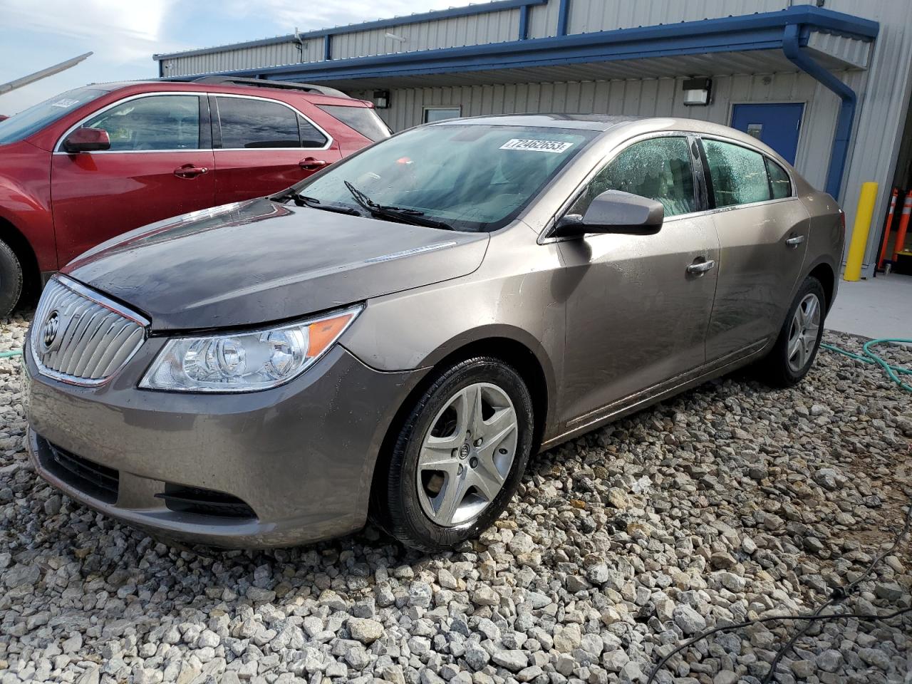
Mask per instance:
[[[47,283],[32,322],[32,358],[49,378],[101,385],[140,348],[148,325],[142,316],[56,275]]]

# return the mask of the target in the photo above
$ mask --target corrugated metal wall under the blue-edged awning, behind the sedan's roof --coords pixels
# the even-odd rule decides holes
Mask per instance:
[[[861,72],[842,75],[853,88]],[[425,107],[460,107],[462,116],[518,112],[586,112],[631,116],[675,116],[728,124],[731,105],[739,102],[804,102],[804,122],[796,168],[823,187],[833,144],[839,100],[806,74],[724,76],[713,78],[709,107],[686,107],[683,78],[535,83],[456,88],[401,88],[391,92],[390,109],[379,110],[393,130],[421,123]],[[369,98],[368,92],[353,93]]]

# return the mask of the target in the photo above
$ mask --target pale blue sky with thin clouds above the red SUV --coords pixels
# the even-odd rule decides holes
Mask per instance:
[[[0,0],[0,83],[84,52],[95,53],[56,76],[0,95],[0,114],[14,114],[87,83],[156,78],[154,53],[468,4],[469,0]]]

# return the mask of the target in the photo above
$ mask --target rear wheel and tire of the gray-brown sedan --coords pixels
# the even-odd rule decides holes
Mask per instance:
[[[820,349],[825,312],[824,286],[813,276],[808,276],[798,288],[792,306],[789,306],[789,313],[772,350],[758,364],[762,382],[773,388],[789,388],[801,382]],[[796,337],[801,337],[803,341],[797,342]]]

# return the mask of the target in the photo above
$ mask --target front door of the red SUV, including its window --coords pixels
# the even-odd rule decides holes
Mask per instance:
[[[77,154],[57,144],[51,205],[60,265],[119,233],[215,203],[206,98],[135,96],[80,125],[107,130],[111,144]]]

